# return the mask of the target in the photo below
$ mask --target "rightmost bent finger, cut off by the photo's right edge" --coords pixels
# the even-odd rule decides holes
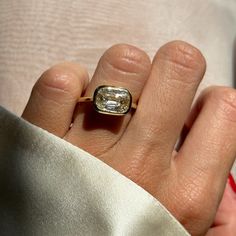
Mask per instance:
[[[195,119],[175,163],[195,192],[208,186],[212,202],[218,204],[236,154],[236,91],[212,87],[197,101]],[[199,188],[199,189],[198,189]]]

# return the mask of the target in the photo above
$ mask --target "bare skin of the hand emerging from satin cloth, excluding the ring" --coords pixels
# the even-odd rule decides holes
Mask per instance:
[[[201,52],[182,41],[161,47],[152,62],[136,47],[115,45],[101,57],[90,83],[79,64],[43,73],[22,117],[133,180],[191,235],[210,235],[235,160],[236,91],[210,87],[191,110],[205,68]],[[104,84],[127,88],[138,101],[136,111],[113,117],[77,104]]]

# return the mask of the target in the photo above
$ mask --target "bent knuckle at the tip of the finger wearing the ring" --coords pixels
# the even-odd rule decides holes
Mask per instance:
[[[127,73],[146,73],[151,67],[149,56],[128,44],[112,46],[104,53],[101,61],[115,70]]]

